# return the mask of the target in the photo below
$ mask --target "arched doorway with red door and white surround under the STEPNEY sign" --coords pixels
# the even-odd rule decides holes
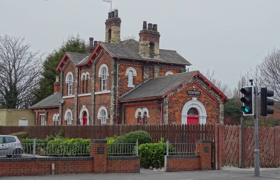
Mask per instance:
[[[192,97],[182,108],[181,124],[206,124],[206,109],[204,105]]]

